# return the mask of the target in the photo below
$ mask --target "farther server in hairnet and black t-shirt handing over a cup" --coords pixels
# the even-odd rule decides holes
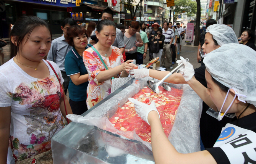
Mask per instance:
[[[213,24],[207,28],[206,32],[207,33],[205,35],[205,43],[202,46],[203,51],[206,54],[210,53],[213,50],[216,50],[220,46],[227,43],[238,43],[235,32],[227,25]],[[204,87],[207,87],[205,70],[206,67],[204,65],[197,69],[194,69],[194,76],[196,80],[203,84]],[[133,77],[135,77],[136,79],[150,76],[154,77],[155,79],[161,80],[168,73],[169,72],[167,71],[156,71],[152,69],[133,69],[130,71],[130,74],[134,74]],[[173,84],[186,84],[185,79],[180,73],[172,74],[172,76],[167,78],[165,82]],[[200,135],[204,148],[211,148],[219,137],[219,133],[221,132],[222,127],[224,127],[228,122],[231,121],[231,118],[229,117],[224,117],[222,121],[217,121],[206,113],[208,109],[209,106],[207,106],[206,103],[203,102],[203,110],[200,119]]]

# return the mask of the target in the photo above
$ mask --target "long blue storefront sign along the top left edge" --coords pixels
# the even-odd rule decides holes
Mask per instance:
[[[24,2],[24,0],[18,0]],[[42,5],[75,7],[76,0],[26,0],[25,2],[38,3]]]

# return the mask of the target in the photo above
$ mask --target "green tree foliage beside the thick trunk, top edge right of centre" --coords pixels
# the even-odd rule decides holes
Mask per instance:
[[[175,0],[175,6],[172,6],[174,20],[177,20],[178,16],[182,14],[182,11],[186,11],[187,16],[193,16],[196,13],[197,5],[193,0]]]

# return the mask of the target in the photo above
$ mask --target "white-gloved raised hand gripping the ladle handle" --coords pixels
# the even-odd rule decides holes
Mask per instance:
[[[194,76],[194,67],[190,62],[186,61],[182,56],[180,56],[180,60],[177,60],[177,63],[183,63],[183,66],[179,68],[180,73],[183,75],[185,81],[191,80]]]

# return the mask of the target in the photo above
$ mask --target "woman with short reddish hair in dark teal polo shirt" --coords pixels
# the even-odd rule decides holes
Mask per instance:
[[[87,44],[86,30],[82,26],[71,26],[65,36],[66,41],[73,48],[68,52],[65,58],[65,71],[70,77],[68,85],[69,102],[73,114],[81,115],[86,112],[86,90],[89,84],[88,72],[83,62],[83,52],[91,47]]]

